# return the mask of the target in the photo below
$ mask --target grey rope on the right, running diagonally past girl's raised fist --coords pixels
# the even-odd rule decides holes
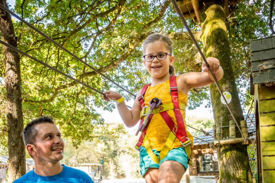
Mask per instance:
[[[225,103],[226,103],[226,106],[227,106],[229,112],[231,113],[231,116],[233,117],[235,123],[237,124],[237,127],[239,128],[241,135],[244,137],[244,134],[242,133],[242,131],[241,131],[241,129],[240,129],[238,123],[237,123],[237,120],[235,119],[235,117],[234,117],[232,111],[230,110],[230,108],[229,108],[229,106],[228,106],[228,103],[227,103],[227,101],[226,101],[224,95],[222,94],[222,89],[220,88],[220,86],[219,86],[219,84],[218,84],[218,81],[217,81],[215,75],[212,73],[212,70],[210,69],[209,64],[207,63],[207,60],[205,59],[205,56],[204,56],[203,52],[202,52],[201,49],[200,49],[200,46],[198,45],[198,43],[197,43],[197,41],[196,41],[196,39],[195,39],[195,37],[194,37],[194,35],[193,35],[193,33],[192,33],[190,27],[188,26],[188,24],[187,24],[187,22],[186,22],[186,20],[185,20],[185,18],[184,18],[184,16],[183,16],[183,14],[181,13],[181,10],[179,9],[176,0],[171,0],[171,2],[172,2],[172,4],[173,4],[173,6],[174,6],[174,9],[175,9],[176,13],[178,13],[178,16],[179,16],[180,19],[182,20],[182,23],[184,24],[185,28],[187,29],[187,31],[188,31],[188,33],[189,33],[189,35],[190,35],[192,41],[193,41],[194,44],[196,45],[196,48],[197,48],[198,51],[200,52],[200,55],[201,55],[201,57],[203,58],[203,60],[204,60],[204,62],[205,62],[205,64],[206,64],[206,66],[209,68],[209,73],[210,73],[211,77],[213,78],[213,80],[214,80],[214,82],[215,82],[215,84],[216,84],[216,86],[217,86],[219,92],[221,93],[222,98],[224,99],[224,101],[225,101]],[[245,139],[245,137],[244,137],[244,139]]]

